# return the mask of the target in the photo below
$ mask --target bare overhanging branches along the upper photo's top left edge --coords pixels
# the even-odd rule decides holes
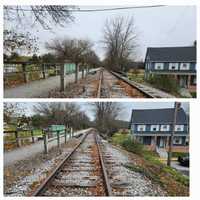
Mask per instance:
[[[75,6],[31,5],[4,6],[4,20],[15,24],[35,26],[51,29],[52,25],[63,26],[74,20],[71,9]],[[53,24],[52,24],[53,23]]]

